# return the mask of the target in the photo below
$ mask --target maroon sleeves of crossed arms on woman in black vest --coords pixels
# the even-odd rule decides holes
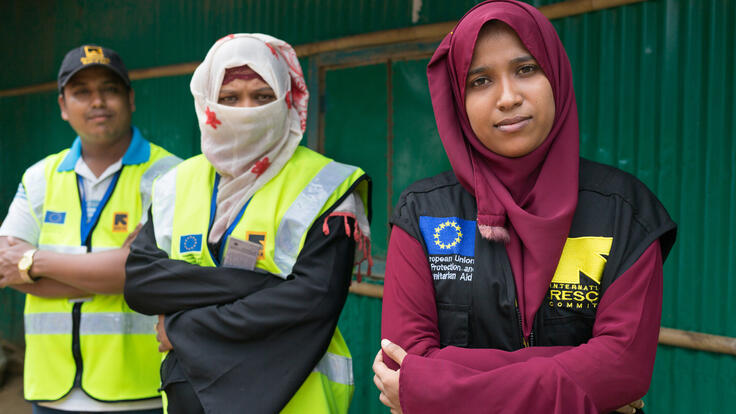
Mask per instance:
[[[588,343],[515,352],[440,348],[421,245],[394,227],[389,256],[383,337],[409,352],[400,371],[404,412],[607,412],[646,393],[662,303],[658,242],[606,290]]]

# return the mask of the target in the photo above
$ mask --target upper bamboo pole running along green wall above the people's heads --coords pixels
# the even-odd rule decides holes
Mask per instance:
[[[542,6],[539,8],[539,11],[551,20],[644,1],[647,0],[568,0],[550,4],[548,6]],[[439,41],[455,27],[455,24],[457,24],[457,21],[383,30],[380,32],[364,33],[339,39],[330,39],[322,42],[307,43],[295,46],[294,49],[296,50],[297,55],[304,57],[319,53],[383,46],[395,43]],[[194,69],[196,69],[197,66],[199,66],[199,62],[135,69],[130,71],[130,79],[139,80],[188,75],[194,72]],[[0,98],[53,91],[56,89],[56,85],[56,82],[45,82],[20,88],[5,89],[0,91]]]

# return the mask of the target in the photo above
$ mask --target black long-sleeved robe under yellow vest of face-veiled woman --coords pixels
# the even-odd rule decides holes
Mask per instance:
[[[285,280],[169,259],[149,213],[126,262],[125,299],[138,312],[166,315],[174,351],[162,388],[188,382],[207,413],[275,413],[286,405],[327,350],[348,294],[355,241],[345,224],[355,223],[330,219],[325,235],[329,213],[309,229]]]

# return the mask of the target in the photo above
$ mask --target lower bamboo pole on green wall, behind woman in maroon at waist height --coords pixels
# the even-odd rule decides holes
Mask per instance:
[[[381,299],[383,298],[383,286],[353,281],[350,284],[350,293]],[[678,348],[694,349],[697,351],[736,355],[736,338],[728,336],[661,327],[659,329],[659,343],[660,345],[676,346]]]

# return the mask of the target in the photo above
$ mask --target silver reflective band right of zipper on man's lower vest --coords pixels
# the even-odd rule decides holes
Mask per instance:
[[[82,312],[80,335],[154,334],[156,316],[127,312]]]

